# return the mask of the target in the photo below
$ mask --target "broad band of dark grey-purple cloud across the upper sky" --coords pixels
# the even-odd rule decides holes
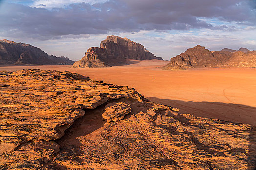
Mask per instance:
[[[232,30],[235,26],[220,21],[256,24],[256,12],[250,3],[250,0],[109,0],[51,10],[8,3],[0,8],[0,36],[57,39],[64,35],[140,30]],[[217,21],[213,25],[210,19]]]

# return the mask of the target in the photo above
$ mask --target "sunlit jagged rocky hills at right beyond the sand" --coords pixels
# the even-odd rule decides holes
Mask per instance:
[[[256,51],[249,51],[246,48],[240,48],[238,51],[225,48],[213,52],[197,45],[171,58],[170,63],[163,69],[178,66],[181,68],[256,67]]]

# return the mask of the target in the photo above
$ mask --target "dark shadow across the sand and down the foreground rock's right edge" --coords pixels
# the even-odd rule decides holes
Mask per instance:
[[[185,102],[180,100],[159,99],[157,97],[149,97],[147,99],[152,102],[179,108],[180,113],[190,113],[194,116],[251,124],[250,135],[248,136],[248,162],[250,162],[250,164],[247,170],[256,170],[256,107],[221,102]]]

